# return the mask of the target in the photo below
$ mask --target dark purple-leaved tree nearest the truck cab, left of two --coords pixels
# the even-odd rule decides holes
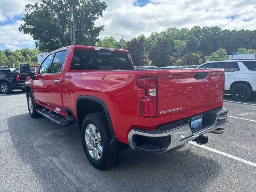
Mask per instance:
[[[145,40],[144,35],[138,36],[138,38],[133,38],[126,44],[126,49],[130,52],[132,56],[132,61],[134,66],[148,66],[149,60],[145,53]]]

